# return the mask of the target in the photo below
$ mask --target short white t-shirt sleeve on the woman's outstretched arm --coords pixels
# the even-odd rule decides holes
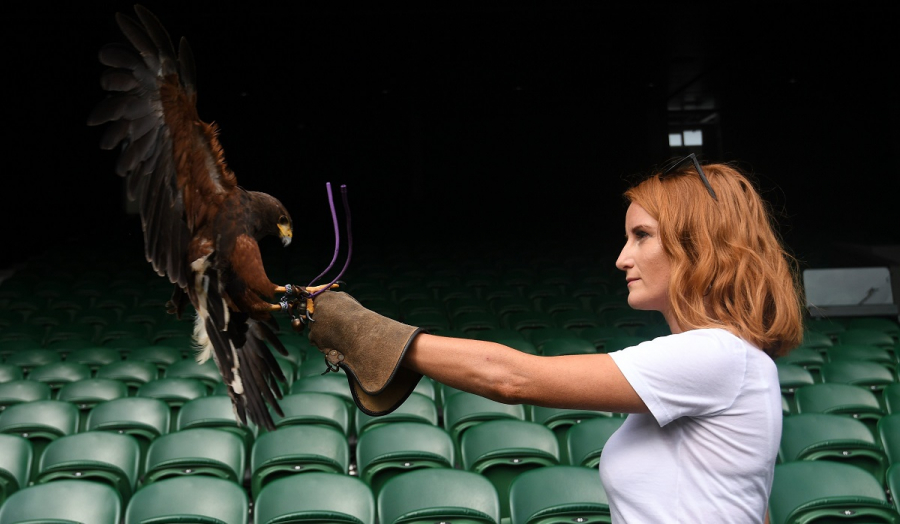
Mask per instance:
[[[610,353],[660,426],[728,408],[747,367],[741,339],[719,329],[660,337]]]

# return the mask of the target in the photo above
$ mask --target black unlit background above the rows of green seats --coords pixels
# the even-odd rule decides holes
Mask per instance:
[[[681,129],[756,178],[803,264],[885,265],[900,244],[895,2],[145,5],[190,41],[201,117],[239,182],[286,204],[301,255],[331,255],[328,181],[349,187],[363,256],[615,255],[622,191],[685,152]],[[140,237],[85,125],[116,11],[131,3],[0,8],[0,268]]]

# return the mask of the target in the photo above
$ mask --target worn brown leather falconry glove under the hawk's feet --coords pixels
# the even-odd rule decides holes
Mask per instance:
[[[309,340],[325,354],[330,369],[347,374],[357,407],[387,415],[412,393],[422,375],[400,366],[421,328],[363,307],[347,293],[326,291],[314,299]]]

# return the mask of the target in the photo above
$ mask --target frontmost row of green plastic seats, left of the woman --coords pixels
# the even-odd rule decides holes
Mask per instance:
[[[547,519],[611,522],[609,504],[596,471],[552,466],[521,474],[510,487],[509,522]],[[476,473],[429,468],[410,471],[375,495],[355,477],[310,472],[267,485],[250,502],[244,491],[222,479],[184,476],[154,482],[127,502],[108,484],[55,480],[14,493],[0,506],[0,524],[17,522],[469,522],[498,524],[504,505],[496,489]],[[54,520],[56,522],[57,520]],[[559,521],[559,520],[553,520]]]

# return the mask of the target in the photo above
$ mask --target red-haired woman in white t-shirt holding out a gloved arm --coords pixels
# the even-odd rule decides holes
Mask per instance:
[[[762,522],[781,438],[773,358],[802,337],[790,258],[731,166],[691,155],[625,197],[616,266],[629,305],[662,312],[670,336],[541,357],[420,333],[328,292],[310,340],[370,412],[393,409],[422,374],[504,403],[629,413],[600,462],[614,522]],[[379,380],[357,380],[374,376],[361,359]]]

